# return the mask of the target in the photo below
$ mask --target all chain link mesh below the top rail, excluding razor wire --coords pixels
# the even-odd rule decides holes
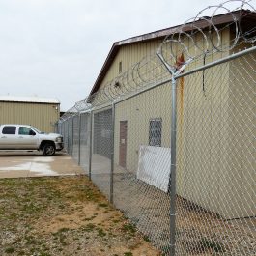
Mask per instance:
[[[255,255],[255,67],[256,51],[176,81],[176,255]],[[171,83],[118,101],[114,127],[112,109],[60,123],[65,147],[169,255]]]

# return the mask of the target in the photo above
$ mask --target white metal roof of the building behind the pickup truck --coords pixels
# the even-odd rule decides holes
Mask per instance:
[[[41,98],[41,97],[19,97],[19,96],[0,96],[0,101],[9,101],[9,102],[30,102],[30,103],[54,103],[60,104],[60,101],[54,98]]]

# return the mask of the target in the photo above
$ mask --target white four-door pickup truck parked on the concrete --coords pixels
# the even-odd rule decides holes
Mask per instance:
[[[63,149],[63,136],[44,133],[28,125],[0,125],[0,150],[38,150],[53,156]]]

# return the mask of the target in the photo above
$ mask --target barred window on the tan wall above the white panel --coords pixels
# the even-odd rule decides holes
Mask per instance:
[[[150,120],[149,145],[161,146],[161,119]]]

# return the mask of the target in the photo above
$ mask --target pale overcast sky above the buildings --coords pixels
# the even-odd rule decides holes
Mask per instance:
[[[0,95],[57,98],[67,111],[88,96],[114,42],[222,2],[0,0]]]

